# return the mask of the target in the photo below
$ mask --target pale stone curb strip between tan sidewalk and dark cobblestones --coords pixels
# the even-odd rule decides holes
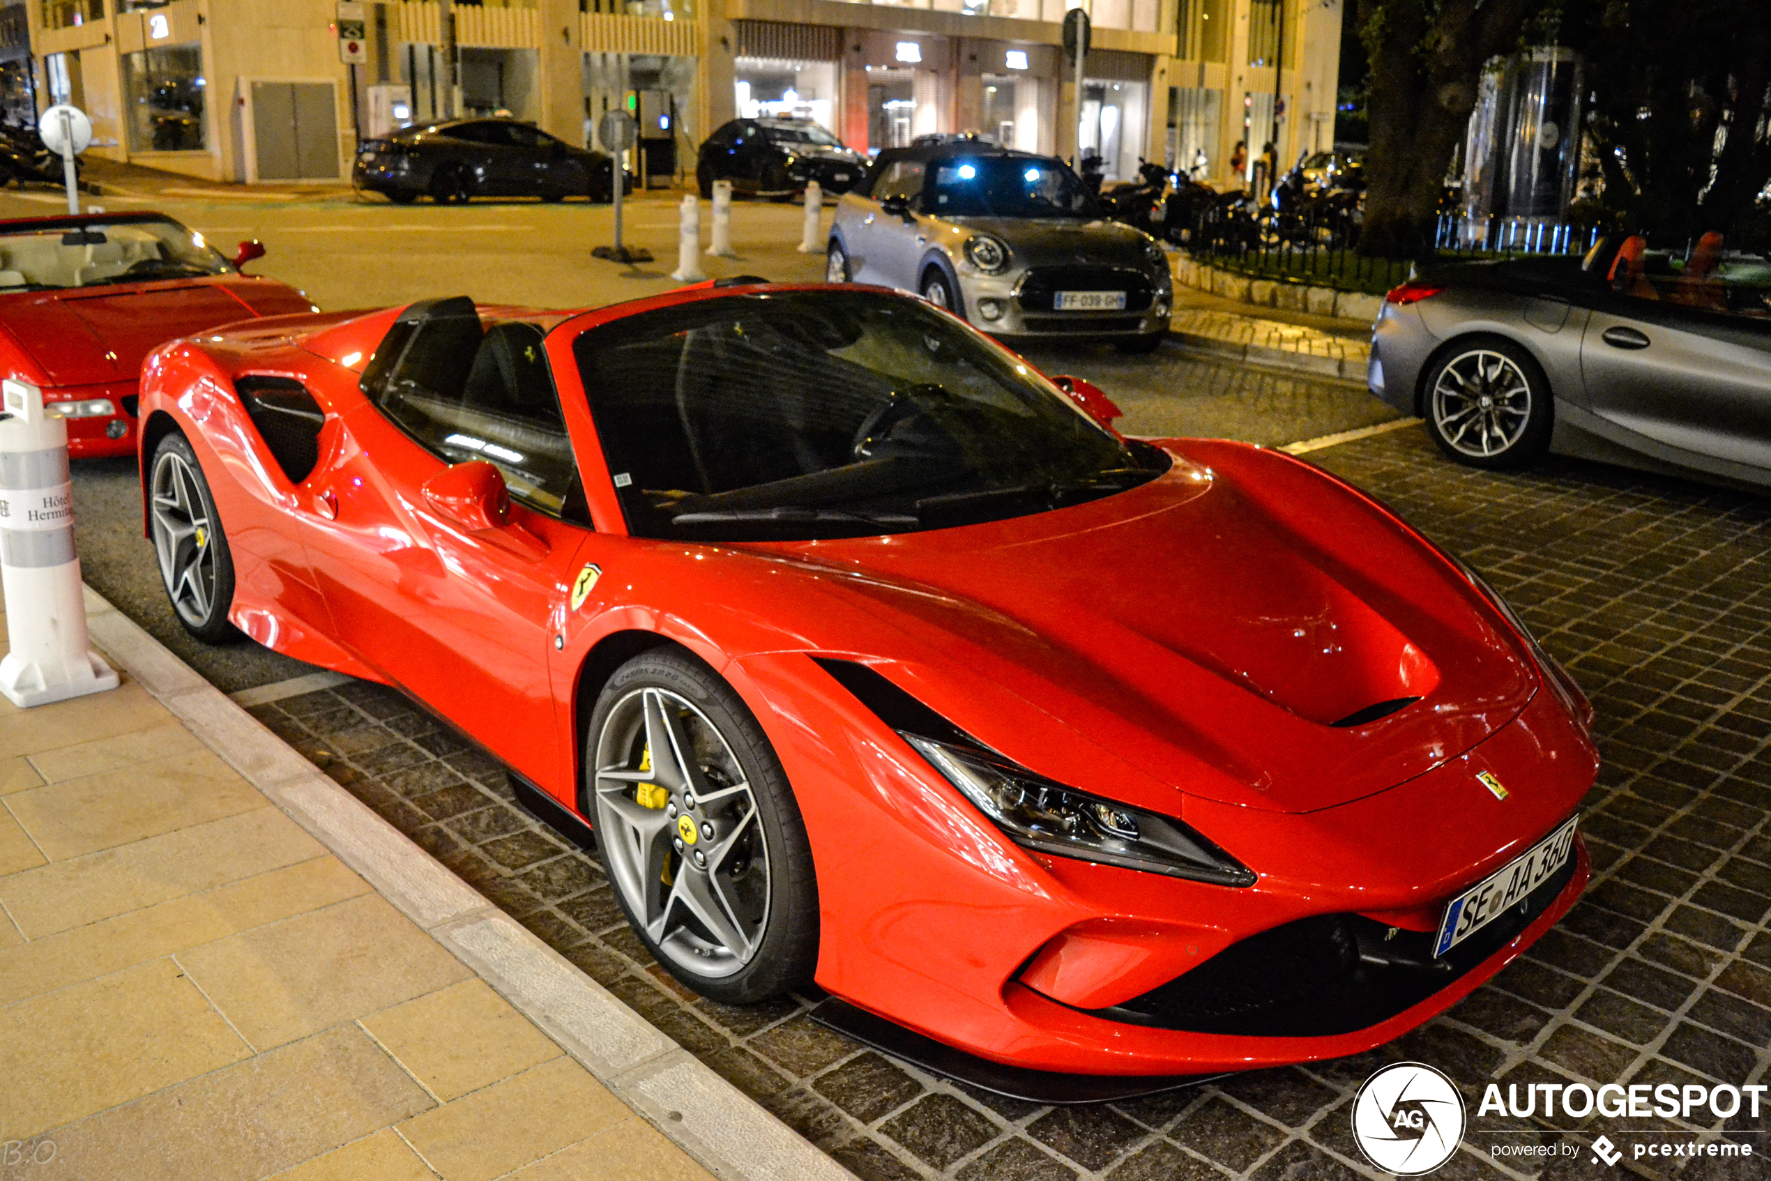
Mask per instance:
[[[855,1181],[333,783],[90,586],[85,600],[92,643],[117,668],[708,1172],[724,1181]]]

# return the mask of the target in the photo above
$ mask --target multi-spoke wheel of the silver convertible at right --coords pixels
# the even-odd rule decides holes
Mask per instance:
[[[1488,471],[1541,459],[1555,418],[1543,367],[1502,336],[1466,336],[1442,351],[1427,370],[1420,414],[1447,457]]]

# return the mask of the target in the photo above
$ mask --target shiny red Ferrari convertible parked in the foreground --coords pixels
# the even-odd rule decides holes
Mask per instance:
[[[708,997],[1047,1098],[1388,1041],[1580,894],[1590,708],[1358,490],[1086,393],[866,287],[282,317],[149,358],[147,533]]]

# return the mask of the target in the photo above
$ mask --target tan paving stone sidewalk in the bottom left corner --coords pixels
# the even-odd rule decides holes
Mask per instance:
[[[0,699],[0,1062],[7,1179],[712,1181],[128,676]]]

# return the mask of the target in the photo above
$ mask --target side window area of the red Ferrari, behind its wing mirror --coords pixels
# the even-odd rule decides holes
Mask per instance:
[[[583,490],[544,335],[528,320],[482,328],[462,299],[441,315],[395,324],[363,374],[363,391],[437,459],[491,460],[514,498],[572,517]]]

